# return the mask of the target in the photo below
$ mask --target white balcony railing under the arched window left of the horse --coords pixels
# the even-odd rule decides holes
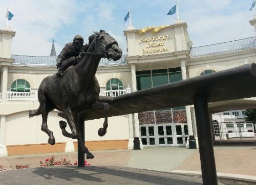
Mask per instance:
[[[7,100],[8,101],[35,101],[35,100],[37,100],[37,91],[34,91],[34,92],[7,92]]]

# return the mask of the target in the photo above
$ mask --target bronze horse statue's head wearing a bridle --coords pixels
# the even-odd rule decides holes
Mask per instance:
[[[98,53],[104,53],[105,58],[114,61],[119,60],[122,57],[122,49],[118,46],[117,41],[103,30],[100,32],[94,32],[89,37],[90,46],[93,46],[94,51]]]

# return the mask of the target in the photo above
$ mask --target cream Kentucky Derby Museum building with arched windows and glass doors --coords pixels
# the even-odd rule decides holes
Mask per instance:
[[[256,17],[249,22],[256,31]],[[14,36],[10,27],[0,30],[0,156],[77,150],[77,141],[62,135],[58,122],[63,119],[57,111],[48,117],[48,127],[56,140],[53,146],[40,129],[41,116],[28,116],[29,110],[39,107],[37,90],[42,79],[57,71],[54,43],[49,57],[12,55]],[[255,36],[193,47],[187,24],[181,20],[160,27],[128,27],[124,36],[128,55],[115,62],[102,59],[99,64],[96,77],[101,96],[120,96],[256,61]],[[209,109],[218,113],[212,115],[212,120],[224,122],[223,113],[219,112],[246,109],[254,104],[254,98],[250,98],[209,103]],[[99,137],[97,131],[102,124],[103,119],[85,122],[89,150],[133,149],[134,137],[140,138],[141,149],[188,147],[187,138],[197,137],[193,105],[110,117],[106,135]]]

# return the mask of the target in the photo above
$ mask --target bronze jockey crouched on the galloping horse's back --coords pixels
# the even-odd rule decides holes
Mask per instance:
[[[82,52],[86,52],[88,44],[83,45],[83,38],[80,35],[76,35],[73,42],[65,45],[57,57],[57,76],[61,76],[63,71],[71,65],[76,65],[81,57]]]

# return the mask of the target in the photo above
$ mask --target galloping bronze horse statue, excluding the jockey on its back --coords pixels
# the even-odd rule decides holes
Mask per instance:
[[[78,144],[86,153],[87,158],[93,158],[93,154],[84,146],[79,130],[79,113],[86,110],[103,109],[103,128],[99,128],[98,135],[104,136],[108,127],[109,104],[99,102],[100,87],[95,76],[101,58],[119,60],[122,50],[117,41],[105,31],[94,32],[89,37],[89,48],[75,66],[69,67],[61,77],[47,76],[42,80],[38,88],[38,101],[40,106],[37,110],[29,111],[29,117],[42,115],[41,130],[48,136],[48,143],[55,144],[53,132],[48,129],[48,113],[57,109],[66,113],[66,119],[72,133],[66,131],[67,123],[60,121],[59,125],[63,136],[77,139]]]

